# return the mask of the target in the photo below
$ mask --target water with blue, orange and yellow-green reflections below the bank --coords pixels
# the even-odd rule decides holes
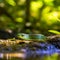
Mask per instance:
[[[41,49],[33,46],[22,48],[19,53],[0,53],[0,60],[60,60],[60,49],[51,44],[38,45]]]

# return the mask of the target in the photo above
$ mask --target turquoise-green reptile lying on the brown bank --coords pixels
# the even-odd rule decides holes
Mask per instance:
[[[25,34],[25,33],[19,33],[18,34],[18,38],[21,38],[23,40],[37,40],[37,41],[41,41],[41,40],[45,40],[46,36],[44,36],[42,34]]]

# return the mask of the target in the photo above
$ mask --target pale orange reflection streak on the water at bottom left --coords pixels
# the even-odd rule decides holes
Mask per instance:
[[[2,60],[4,60],[4,59],[5,60],[12,60],[12,58],[24,59],[25,54],[24,53],[0,53],[0,59],[2,59]]]

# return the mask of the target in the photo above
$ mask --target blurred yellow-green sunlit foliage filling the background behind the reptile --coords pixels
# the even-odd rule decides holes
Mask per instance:
[[[0,0],[0,30],[43,35],[60,31],[60,0]]]

